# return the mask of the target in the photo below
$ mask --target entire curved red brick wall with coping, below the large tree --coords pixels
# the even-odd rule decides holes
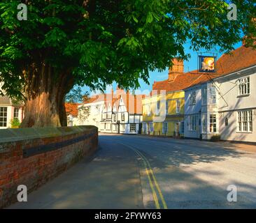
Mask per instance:
[[[97,145],[93,126],[0,130],[0,208],[17,201],[18,185],[36,190]]]

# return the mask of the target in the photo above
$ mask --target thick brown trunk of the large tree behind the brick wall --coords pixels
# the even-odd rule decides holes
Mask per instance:
[[[70,72],[55,73],[45,64],[23,71],[26,102],[21,128],[66,126],[64,97],[73,86]]]

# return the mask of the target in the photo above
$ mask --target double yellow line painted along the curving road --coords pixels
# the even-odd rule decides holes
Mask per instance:
[[[127,146],[127,145],[125,145]],[[159,184],[157,183],[157,179],[155,178],[155,174],[154,172],[152,171],[152,168],[150,166],[150,163],[148,162],[147,158],[138,150],[136,150],[136,148],[133,148],[131,146],[129,146],[139,157],[141,157],[141,159],[143,160],[143,163],[144,163],[144,166],[145,166],[145,172],[148,176],[148,182],[150,184],[150,187],[151,187],[151,190],[152,190],[152,194],[153,194],[153,199],[155,201],[155,207],[157,209],[161,209],[161,206],[160,206],[160,203],[159,203],[159,200],[161,201],[162,203],[162,207],[164,209],[168,209],[167,208],[167,205],[166,205],[166,202],[164,201],[164,196],[162,194],[162,191],[159,187]],[[159,194],[159,198],[157,196],[157,192]]]

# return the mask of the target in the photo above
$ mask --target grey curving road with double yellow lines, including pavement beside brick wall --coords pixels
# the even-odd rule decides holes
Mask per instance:
[[[94,157],[9,208],[256,208],[253,151],[228,143],[101,134]],[[229,185],[236,186],[236,202],[227,201]]]

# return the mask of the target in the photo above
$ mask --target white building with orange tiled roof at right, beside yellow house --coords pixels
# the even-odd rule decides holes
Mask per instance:
[[[256,142],[256,51],[223,55],[216,74],[201,74],[185,90],[185,137]]]

